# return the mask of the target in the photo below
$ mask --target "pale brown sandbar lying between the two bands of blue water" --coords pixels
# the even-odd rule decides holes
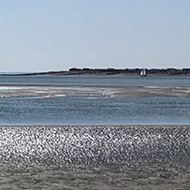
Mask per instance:
[[[190,88],[156,86],[1,86],[0,97],[190,97]]]

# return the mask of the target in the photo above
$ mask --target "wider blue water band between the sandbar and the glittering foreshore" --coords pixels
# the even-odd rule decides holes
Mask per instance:
[[[189,124],[190,98],[0,98],[1,125]]]

